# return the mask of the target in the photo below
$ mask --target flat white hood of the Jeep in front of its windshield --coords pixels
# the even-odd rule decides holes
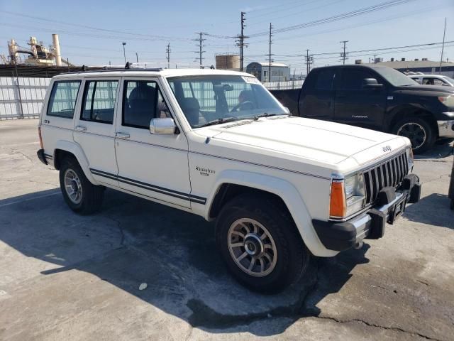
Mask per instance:
[[[394,151],[406,144],[400,136],[301,117],[240,121],[198,129],[197,133],[211,137],[212,143],[216,145],[235,144],[242,150],[249,147],[255,152],[260,149],[267,155],[275,153],[281,158],[304,158],[331,165],[341,163],[355,154],[363,155],[362,151],[374,146],[392,145]],[[372,149],[374,155],[368,155],[368,160],[384,156],[382,147]],[[365,161],[364,156],[360,159],[356,163]]]

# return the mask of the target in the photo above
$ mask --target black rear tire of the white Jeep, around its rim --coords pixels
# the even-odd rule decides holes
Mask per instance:
[[[75,175],[77,175],[78,181],[76,181],[75,186],[77,188],[79,186],[82,188],[81,194],[79,195],[79,197],[77,197],[77,200],[73,200],[67,193],[67,190],[65,188],[65,174],[67,174],[67,172],[73,172]],[[75,158],[66,157],[61,163],[60,189],[62,190],[65,202],[74,212],[77,212],[81,215],[89,215],[101,209],[102,200],[104,197],[104,187],[96,186],[90,183]]]

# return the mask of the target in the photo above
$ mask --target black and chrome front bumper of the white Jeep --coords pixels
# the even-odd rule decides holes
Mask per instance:
[[[405,210],[407,203],[418,202],[421,184],[417,175],[406,175],[399,190],[382,189],[380,202],[366,212],[346,222],[312,220],[314,229],[326,249],[343,251],[358,247],[363,239],[379,239],[384,235],[386,223],[394,221]]]

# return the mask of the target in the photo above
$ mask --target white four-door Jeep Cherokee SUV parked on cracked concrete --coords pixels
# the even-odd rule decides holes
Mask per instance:
[[[49,89],[38,157],[72,210],[99,210],[109,187],[216,219],[228,269],[255,291],[382,237],[420,197],[408,139],[292,117],[247,73],[127,65]]]

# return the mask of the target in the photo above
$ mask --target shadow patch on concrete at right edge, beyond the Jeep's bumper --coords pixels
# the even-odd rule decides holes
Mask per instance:
[[[432,193],[423,197],[417,205],[407,206],[402,215],[411,222],[454,229],[454,212],[450,210],[448,195]]]

